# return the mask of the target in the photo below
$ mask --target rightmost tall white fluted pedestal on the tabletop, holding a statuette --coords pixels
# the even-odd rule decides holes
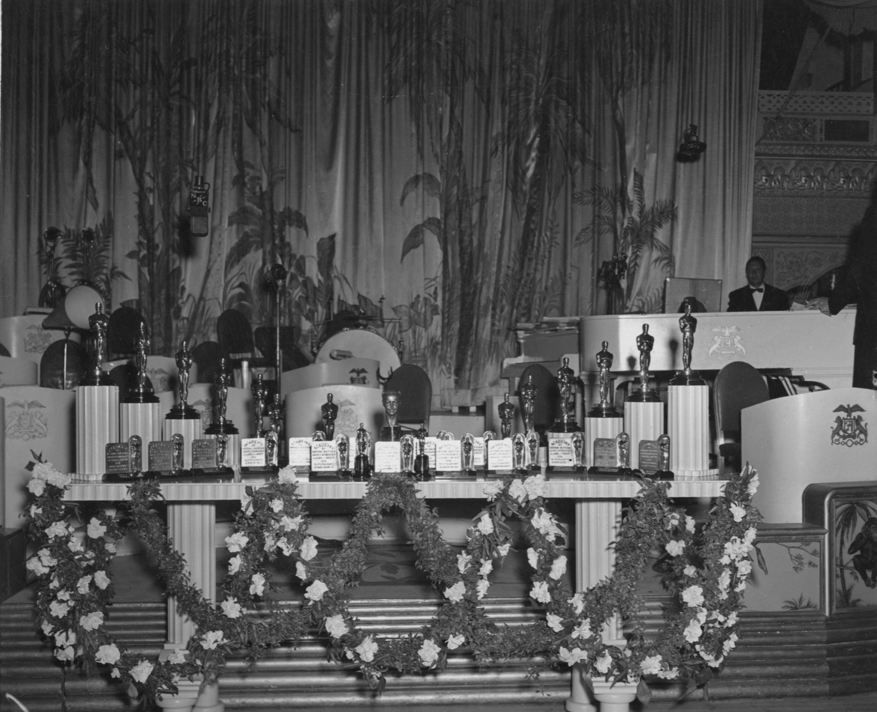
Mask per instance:
[[[717,474],[709,469],[709,386],[667,388],[670,469],[683,477]]]

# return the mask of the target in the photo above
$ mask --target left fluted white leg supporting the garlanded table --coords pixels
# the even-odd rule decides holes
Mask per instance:
[[[213,502],[168,502],[168,534],[189,567],[189,580],[204,598],[216,596],[216,505]],[[176,597],[168,596],[166,648],[184,648],[195,632],[195,623],[177,610]]]

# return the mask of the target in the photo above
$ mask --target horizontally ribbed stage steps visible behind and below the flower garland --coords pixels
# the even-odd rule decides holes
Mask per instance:
[[[646,630],[660,630],[663,602],[655,596],[643,611]],[[426,600],[362,601],[351,612],[366,630],[407,634],[420,630],[435,613],[437,603]],[[499,599],[486,607],[497,623],[529,623],[541,614],[528,602]],[[166,610],[161,603],[115,606],[107,626],[120,641],[144,657],[154,657],[164,643]],[[33,624],[30,603],[0,607],[0,682],[30,712],[55,712],[61,705],[61,667]],[[830,694],[826,682],[829,647],[824,616],[800,611],[779,616],[744,613],[740,640],[724,671],[709,684],[710,699]],[[424,703],[557,703],[569,694],[566,670],[543,670],[538,679],[527,677],[533,661],[511,660],[502,666],[479,666],[466,655],[452,655],[442,673],[399,677],[391,675],[380,698],[360,675],[326,660],[324,637],[311,635],[298,649],[280,647],[255,661],[232,657],[220,678],[222,699],[228,709],[259,712],[289,708],[413,707]],[[864,675],[867,677],[867,673]],[[108,672],[82,677],[78,671],[66,680],[69,712],[135,708]],[[677,699],[678,683],[654,685],[656,701]],[[693,699],[702,695],[696,693]],[[0,712],[18,708],[0,701]]]

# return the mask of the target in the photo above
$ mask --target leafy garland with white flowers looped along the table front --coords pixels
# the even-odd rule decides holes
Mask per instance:
[[[38,576],[37,623],[53,638],[62,663],[111,666],[111,675],[128,684],[129,694],[176,691],[175,680],[196,674],[213,679],[234,650],[252,656],[280,644],[297,645],[311,628],[330,637],[329,655],[358,666],[381,691],[389,670],[422,673],[444,669],[447,653],[466,648],[484,662],[510,658],[545,658],[561,666],[580,665],[585,673],[611,680],[688,680],[689,689],[709,681],[723,666],[738,639],[738,611],[752,571],[759,514],[752,507],[758,475],[746,468],[731,475],[717,497],[709,521],[695,527],[691,517],[667,497],[667,483],[645,480],[624,509],[616,542],[616,570],[587,592],[572,594],[564,582],[567,558],[563,530],[545,502],[541,475],[489,481],[487,505],[474,517],[467,545],[459,551],[442,538],[438,513],[417,496],[417,486],[402,475],[381,475],[369,483],[358,505],[350,536],[331,558],[317,558],[310,518],[296,495],[294,468],[260,488],[245,488],[232,534],[225,539],[233,556],[223,582],[224,599],[214,607],[189,583],[186,563],[168,540],[152,502],[161,499],[154,481],[130,487],[131,501],[115,515],[92,507],[83,515],[65,504],[69,475],[58,473],[34,455],[35,497],[28,514],[38,552],[27,567]],[[367,546],[390,509],[402,509],[417,552],[417,566],[442,592],[445,602],[418,634],[377,637],[361,630],[348,608],[346,588],[355,586],[367,562]],[[82,542],[69,516],[86,523]],[[524,523],[533,569],[530,597],[545,618],[521,626],[490,621],[481,600],[490,574],[510,551],[509,520]],[[103,626],[113,588],[109,566],[118,539],[136,530],[157,559],[168,595],[196,623],[186,650],[164,660],[146,660],[125,649]],[[636,582],[651,561],[655,546],[670,562],[667,585],[678,609],[655,639],[645,636],[638,617],[642,601]],[[760,554],[759,554],[760,559]],[[289,566],[304,587],[303,605],[278,602],[267,595],[272,569]],[[622,649],[602,639],[613,616],[632,624]]]

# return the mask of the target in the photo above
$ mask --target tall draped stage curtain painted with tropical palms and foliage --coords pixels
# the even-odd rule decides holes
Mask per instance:
[[[146,317],[153,352],[236,309],[304,351],[355,305],[443,404],[502,390],[514,327],[627,310],[667,276],[741,281],[758,0],[4,0],[0,314],[59,270]],[[674,156],[689,125],[706,153]],[[196,175],[210,234],[189,234]],[[96,230],[89,274],[76,243]]]

